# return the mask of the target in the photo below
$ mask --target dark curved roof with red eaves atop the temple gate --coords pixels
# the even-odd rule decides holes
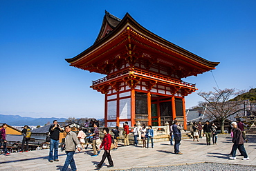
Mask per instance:
[[[132,41],[137,47],[145,48],[151,50],[152,53],[158,54],[159,60],[176,61],[195,68],[194,72],[197,74],[213,70],[219,64],[219,62],[203,59],[150,32],[135,21],[129,13],[125,14],[125,17],[120,20],[117,17],[113,17],[109,12],[106,12],[104,16],[102,28],[95,43],[76,57],[66,59],[66,61],[76,68],[91,71],[90,67],[93,66],[93,63],[108,60],[113,55],[113,52],[125,48],[125,42],[128,41]],[[93,72],[96,71],[93,70]]]

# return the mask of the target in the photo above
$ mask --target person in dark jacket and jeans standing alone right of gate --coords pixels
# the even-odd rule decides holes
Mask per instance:
[[[178,123],[177,120],[174,120],[174,125],[172,127],[174,131],[174,153],[175,154],[183,154],[179,150],[179,146],[181,145],[181,130],[183,130],[183,126]]]

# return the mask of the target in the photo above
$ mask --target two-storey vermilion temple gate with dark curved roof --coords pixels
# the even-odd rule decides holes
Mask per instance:
[[[137,121],[164,125],[174,118],[186,123],[185,96],[196,91],[196,86],[181,79],[219,64],[158,37],[128,13],[121,20],[109,12],[93,46],[66,61],[107,75],[91,86],[105,94],[105,126],[125,121],[131,126]]]

